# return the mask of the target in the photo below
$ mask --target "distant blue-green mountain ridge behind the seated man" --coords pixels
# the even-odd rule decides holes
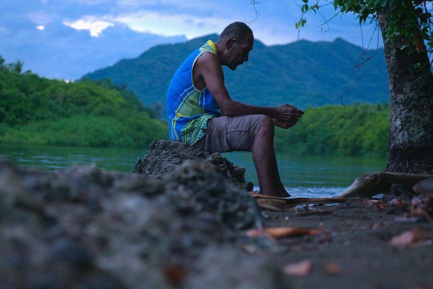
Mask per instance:
[[[137,58],[122,59],[83,77],[110,78],[117,85],[126,84],[146,106],[164,108],[165,93],[177,67],[209,39],[216,41],[218,35],[158,45]],[[364,65],[355,68],[372,54],[375,55]],[[233,99],[260,106],[289,103],[304,109],[340,104],[343,94],[345,105],[389,102],[383,49],[362,55],[361,47],[342,39],[300,40],[273,46],[256,40],[248,62],[236,71],[224,66],[226,86]]]

